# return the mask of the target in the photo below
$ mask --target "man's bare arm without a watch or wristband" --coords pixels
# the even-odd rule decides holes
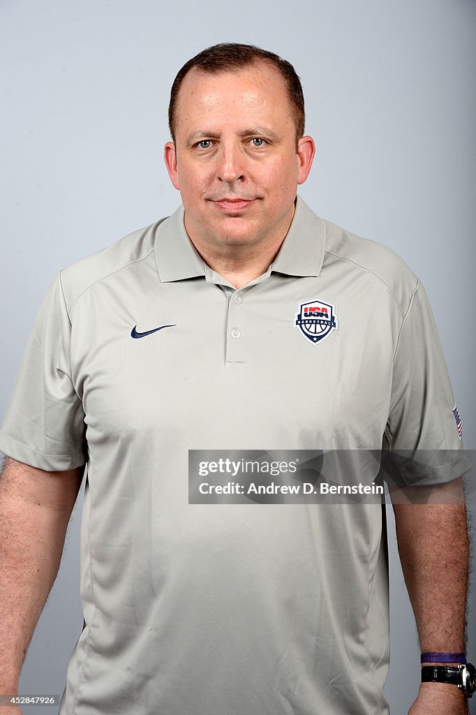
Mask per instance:
[[[58,573],[82,473],[83,468],[46,472],[6,461],[0,478],[0,694],[17,692],[21,665]]]

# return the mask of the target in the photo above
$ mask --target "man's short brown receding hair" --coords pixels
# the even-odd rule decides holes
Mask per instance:
[[[233,72],[247,67],[257,62],[267,62],[276,67],[284,79],[289,104],[291,105],[292,119],[296,126],[296,142],[304,136],[304,94],[302,93],[301,81],[296,70],[290,62],[254,45],[237,44],[236,42],[222,42],[221,44],[207,47],[199,54],[189,59],[182,69],[179,69],[177,77],[174,79],[170,90],[169,102],[169,129],[173,141],[175,141],[175,129],[177,127],[177,102],[179,89],[186,74],[196,67],[202,72],[209,74],[219,74],[220,72]]]

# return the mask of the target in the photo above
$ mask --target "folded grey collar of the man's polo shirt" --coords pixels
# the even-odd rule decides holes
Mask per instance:
[[[319,275],[325,237],[324,221],[298,196],[291,226],[270,266],[272,272],[295,276]],[[206,276],[207,267],[185,230],[183,205],[159,224],[155,255],[162,282]]]

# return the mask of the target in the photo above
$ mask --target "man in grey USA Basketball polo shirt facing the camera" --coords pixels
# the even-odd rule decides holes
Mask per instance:
[[[188,453],[442,450],[414,477],[458,496],[469,464],[425,294],[296,198],[314,142],[289,63],[209,48],[177,75],[169,119],[183,206],[60,273],[1,431],[0,689],[17,687],[87,462],[61,714],[385,714],[380,503],[189,503]],[[457,668],[455,501],[395,517],[422,651]],[[465,712],[447,681],[410,710]]]

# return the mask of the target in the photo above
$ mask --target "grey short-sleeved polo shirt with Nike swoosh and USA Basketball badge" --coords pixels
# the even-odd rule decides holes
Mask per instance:
[[[189,504],[188,450],[456,450],[445,481],[468,468],[454,410],[417,278],[299,198],[239,290],[182,207],[62,271],[0,434],[87,462],[61,714],[387,713],[382,506]]]

